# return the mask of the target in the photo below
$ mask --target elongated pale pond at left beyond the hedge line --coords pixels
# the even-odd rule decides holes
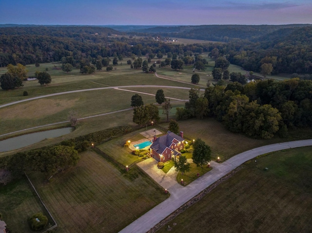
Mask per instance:
[[[72,127],[57,128],[2,140],[0,141],[0,152],[20,149],[28,145],[39,143],[47,138],[57,138],[65,134],[69,134],[71,131]]]

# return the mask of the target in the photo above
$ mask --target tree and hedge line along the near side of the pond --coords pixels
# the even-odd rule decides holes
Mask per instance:
[[[11,156],[0,158],[0,183],[8,183],[17,179],[24,172],[36,171],[46,179],[75,166],[79,161],[79,153],[104,140],[128,133],[130,126],[113,127],[77,138],[65,140],[59,144],[41,147]]]

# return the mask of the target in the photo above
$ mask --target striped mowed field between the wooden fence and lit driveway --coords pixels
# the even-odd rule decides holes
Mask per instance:
[[[76,167],[51,183],[31,175],[58,233],[116,233],[169,197],[137,167],[121,173],[95,152],[80,156]]]

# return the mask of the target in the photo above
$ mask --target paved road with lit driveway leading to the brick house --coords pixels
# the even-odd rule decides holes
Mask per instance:
[[[146,233],[158,222],[178,209],[181,205],[185,204],[191,198],[195,197],[201,191],[212,185],[215,181],[222,178],[245,161],[249,161],[258,155],[273,151],[309,145],[312,145],[312,140],[277,143],[254,148],[235,155],[222,163],[212,161],[210,164],[213,169],[186,187],[179,185],[175,181],[174,174],[166,175],[157,171],[158,169],[156,168],[156,161],[154,159],[148,159],[147,161],[140,162],[137,165],[147,172],[153,179],[155,179],[156,182],[158,182],[163,188],[167,188],[171,196],[146,214],[139,217],[119,233]]]

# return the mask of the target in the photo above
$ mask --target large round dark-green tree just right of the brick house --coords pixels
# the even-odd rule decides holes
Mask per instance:
[[[202,166],[211,161],[211,149],[210,146],[207,145],[200,138],[197,138],[193,144],[193,162],[197,166]]]

